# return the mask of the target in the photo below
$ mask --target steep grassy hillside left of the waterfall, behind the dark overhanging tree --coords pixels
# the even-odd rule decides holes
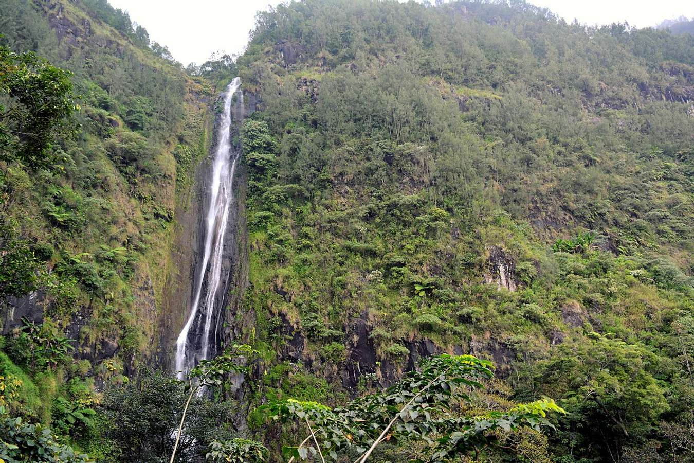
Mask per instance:
[[[0,162],[0,375],[23,371],[12,410],[78,432],[75,404],[164,361],[183,323],[214,93],[103,1],[0,9],[0,44],[71,71],[78,105],[46,165]]]

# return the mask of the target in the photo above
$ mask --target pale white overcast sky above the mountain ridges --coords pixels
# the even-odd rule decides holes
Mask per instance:
[[[214,51],[241,53],[255,22],[255,12],[280,0],[109,0],[142,24],[151,40],[169,47],[176,60],[200,64]],[[432,2],[433,3],[433,2]],[[693,0],[530,0],[550,8],[568,22],[610,24],[627,21],[638,27],[663,19],[694,17]]]

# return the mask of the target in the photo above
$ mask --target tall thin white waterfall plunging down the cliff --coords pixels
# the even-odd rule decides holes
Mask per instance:
[[[230,131],[232,123],[231,108],[234,94],[237,94],[235,104],[243,107],[244,96],[239,90],[241,79],[235,78],[229,84],[224,94],[224,112],[217,134],[217,152],[212,160],[211,177],[209,178],[208,199],[210,207],[205,217],[204,244],[205,249],[200,266],[196,269],[194,280],[194,297],[190,317],[183,326],[176,341],[176,371],[178,378],[183,379],[192,367],[200,360],[210,357],[210,341],[214,343],[217,337],[212,332],[215,310],[215,300],[221,305],[224,300],[223,292],[226,285],[222,275],[224,237],[229,221],[229,210],[232,203],[232,182],[236,170],[239,153],[232,149]]]

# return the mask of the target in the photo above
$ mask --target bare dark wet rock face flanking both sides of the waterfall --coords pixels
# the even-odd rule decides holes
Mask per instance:
[[[221,95],[217,96],[218,103]],[[239,130],[246,115],[253,112],[255,100],[248,97],[248,104],[244,108],[232,105],[231,139],[234,141],[232,153],[240,153]],[[210,183],[212,156],[217,151],[219,123],[221,115],[218,114],[211,131],[212,140],[208,148],[208,155],[196,167],[194,184],[190,187],[189,194],[182,198],[182,203],[176,212],[177,228],[174,235],[174,244],[171,246],[174,264],[174,273],[167,280],[164,287],[164,301],[160,310],[160,357],[158,361],[167,369],[172,369],[175,343],[178,334],[187,321],[194,294],[192,289],[200,282],[200,265],[205,246],[205,215],[210,208],[208,185]],[[235,152],[235,153],[234,153]],[[253,316],[244,312],[242,297],[248,287],[248,233],[246,231],[246,173],[239,158],[232,188],[232,206],[228,218],[226,235],[223,237],[223,260],[221,273],[223,298],[215,301],[213,332],[218,333],[214,339],[214,346],[224,346],[233,340],[243,337],[244,327],[252,323]],[[203,294],[207,291],[207,280],[202,282]],[[250,317],[250,318],[249,318]],[[215,353],[215,350],[212,350]]]

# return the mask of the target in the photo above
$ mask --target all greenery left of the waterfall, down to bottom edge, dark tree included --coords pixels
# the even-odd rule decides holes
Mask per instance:
[[[212,89],[106,1],[1,3],[0,458],[119,461],[101,391],[157,348]]]

